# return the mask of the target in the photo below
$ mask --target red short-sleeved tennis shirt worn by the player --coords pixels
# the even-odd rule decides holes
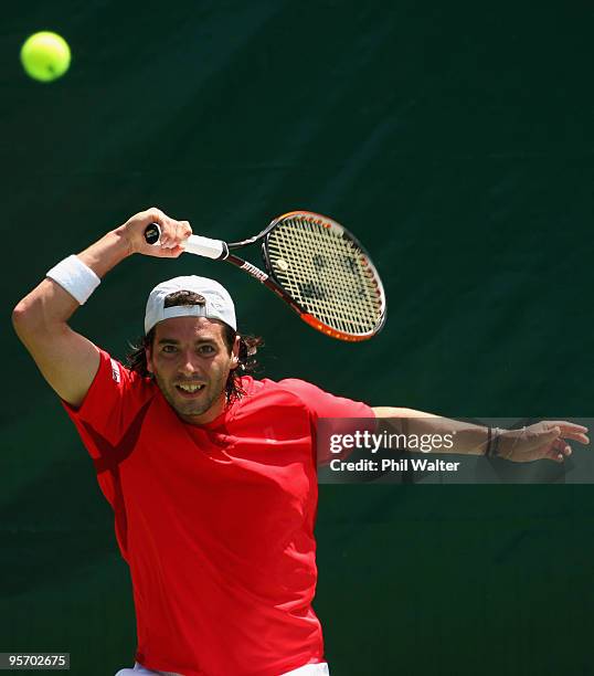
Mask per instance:
[[[323,661],[316,421],[373,412],[301,380],[242,384],[245,397],[192,425],[102,351],[81,408],[65,404],[114,508],[149,669],[278,676]]]

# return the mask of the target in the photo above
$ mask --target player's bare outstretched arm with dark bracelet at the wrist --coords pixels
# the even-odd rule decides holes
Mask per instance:
[[[590,444],[587,427],[563,420],[542,421],[521,430],[502,430],[441,418],[412,409],[376,406],[375,418],[382,420],[386,433],[406,435],[453,434],[454,446],[435,446],[435,453],[492,455],[517,463],[549,458],[562,463],[571,455],[568,440]]]

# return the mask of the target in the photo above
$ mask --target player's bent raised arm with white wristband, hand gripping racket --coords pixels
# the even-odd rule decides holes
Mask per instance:
[[[161,225],[161,246],[145,242],[145,228],[151,222]],[[94,279],[98,283],[134,253],[163,258],[179,256],[183,253],[179,244],[191,232],[188,221],[170,219],[159,209],[137,213],[77,254],[78,261],[61,264],[52,273],[60,282],[46,277],[17,305],[12,311],[14,330],[45,380],[64,401],[79,406],[99,366],[98,348],[67,324],[81,304],[74,296],[81,299],[81,292],[84,296]]]

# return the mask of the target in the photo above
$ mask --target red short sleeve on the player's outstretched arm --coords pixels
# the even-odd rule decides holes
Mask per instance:
[[[354,435],[359,432],[375,432],[375,414],[371,406],[361,401],[336,397],[305,380],[287,378],[279,383],[297,394],[310,412],[316,430],[318,465],[327,465],[330,460],[342,460],[352,453],[352,446],[342,446],[340,452],[332,451],[331,439]]]

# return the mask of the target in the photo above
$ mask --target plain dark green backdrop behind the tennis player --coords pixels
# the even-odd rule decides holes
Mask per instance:
[[[18,53],[47,29],[73,64],[43,85]],[[137,257],[73,321],[118,357],[152,285],[198,273],[266,338],[271,378],[452,416],[592,415],[591,3],[34,1],[0,33],[0,651],[70,651],[81,676],[132,662],[110,510],[9,314],[144,208],[231,240],[328,213],[372,252],[389,319],[343,345],[231,266]],[[593,674],[593,519],[587,485],[322,486],[332,675]]]

